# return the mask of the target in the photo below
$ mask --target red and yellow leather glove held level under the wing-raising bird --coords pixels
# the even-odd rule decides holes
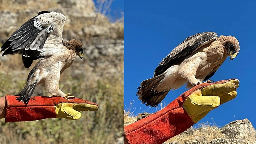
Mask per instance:
[[[5,122],[35,121],[45,118],[67,118],[77,120],[80,111],[97,111],[99,105],[82,99],[66,100],[62,97],[33,96],[29,103],[16,100],[17,96],[6,95]]]

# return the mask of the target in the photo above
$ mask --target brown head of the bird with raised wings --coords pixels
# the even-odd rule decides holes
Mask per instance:
[[[76,55],[79,56],[81,59],[84,56],[84,51],[82,47],[82,42],[77,39],[69,40],[68,42],[64,42],[64,45],[68,49],[73,49],[76,52]]]

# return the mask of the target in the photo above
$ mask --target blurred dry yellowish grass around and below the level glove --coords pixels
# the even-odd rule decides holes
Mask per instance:
[[[14,76],[22,77],[0,73],[1,95],[15,94],[24,87],[24,78],[20,80]],[[0,143],[113,143],[117,138],[116,133],[123,131],[123,82],[119,80],[120,77],[102,78],[96,82],[87,73],[78,78],[63,77],[61,90],[77,98],[97,102],[100,105],[98,111],[82,112],[78,121],[44,119],[4,123],[4,119],[1,119]]]

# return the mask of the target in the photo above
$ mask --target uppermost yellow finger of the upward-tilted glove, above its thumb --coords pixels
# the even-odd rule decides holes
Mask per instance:
[[[226,82],[221,84],[212,84],[202,89],[202,95],[205,96],[223,96],[229,92],[236,91],[236,85],[232,82]]]

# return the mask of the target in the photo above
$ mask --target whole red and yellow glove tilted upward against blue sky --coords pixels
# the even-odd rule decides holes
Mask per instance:
[[[129,144],[161,144],[187,130],[220,104],[234,99],[238,79],[202,83],[184,92],[164,109],[124,127]]]

